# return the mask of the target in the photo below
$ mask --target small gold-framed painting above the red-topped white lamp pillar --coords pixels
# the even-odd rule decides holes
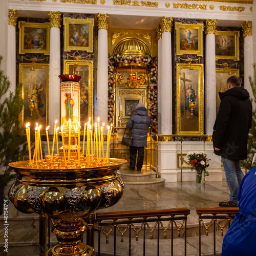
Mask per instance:
[[[94,19],[63,18],[64,51],[93,52]]]

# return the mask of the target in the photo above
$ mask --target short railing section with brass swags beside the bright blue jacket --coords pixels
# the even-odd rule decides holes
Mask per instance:
[[[197,207],[196,212],[198,214],[199,221],[199,256],[201,256],[201,223],[204,227],[206,236],[208,236],[209,228],[213,225],[214,228],[214,255],[216,255],[216,224],[221,230],[221,236],[223,236],[223,229],[229,228],[230,223],[233,221],[234,213],[238,212],[238,207]],[[206,225],[204,220],[209,220],[210,223]],[[224,223],[221,223],[221,220]]]

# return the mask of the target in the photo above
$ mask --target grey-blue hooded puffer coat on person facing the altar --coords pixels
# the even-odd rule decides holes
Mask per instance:
[[[130,119],[126,123],[126,127],[130,129],[130,137],[132,137],[133,146],[146,146],[147,128],[150,127],[150,117],[144,106],[135,110]]]

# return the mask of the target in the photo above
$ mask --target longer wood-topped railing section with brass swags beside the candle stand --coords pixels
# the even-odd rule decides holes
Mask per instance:
[[[132,251],[132,232],[134,232],[136,241],[139,240],[140,232],[143,232],[143,255],[146,251],[146,231],[149,231],[150,239],[153,239],[153,233],[157,233],[157,255],[160,255],[160,230],[163,230],[164,238],[166,233],[170,230],[171,244],[169,255],[174,255],[174,225],[177,230],[177,236],[180,237],[181,228],[184,225],[184,231],[182,237],[184,238],[184,255],[186,255],[186,223],[187,216],[190,210],[188,208],[175,208],[175,209],[163,209],[163,210],[134,210],[134,211],[119,211],[119,212],[105,212],[96,214],[95,222],[97,223],[96,230],[98,231],[98,252],[101,254],[101,232],[104,234],[106,243],[109,243],[109,237],[114,235],[113,242],[113,255],[116,255],[117,247],[117,233],[119,233],[120,241],[124,241],[124,236],[127,231],[127,240],[129,240],[129,255]],[[177,223],[180,220],[181,223]],[[165,223],[165,227],[163,222]],[[153,226],[150,227],[149,223],[153,222]],[[140,224],[136,227],[134,224]],[[108,229],[108,231],[106,231]],[[108,250],[108,252],[110,252]]]

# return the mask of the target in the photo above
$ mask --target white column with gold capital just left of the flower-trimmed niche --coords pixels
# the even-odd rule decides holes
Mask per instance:
[[[108,123],[108,14],[97,14],[98,63],[97,63],[97,116],[100,123]],[[106,133],[107,130],[104,130]]]

